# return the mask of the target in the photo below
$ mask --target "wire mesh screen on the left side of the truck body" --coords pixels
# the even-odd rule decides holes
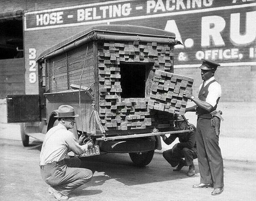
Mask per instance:
[[[94,83],[93,43],[63,52],[47,64],[50,92],[68,90],[71,84],[89,87]]]

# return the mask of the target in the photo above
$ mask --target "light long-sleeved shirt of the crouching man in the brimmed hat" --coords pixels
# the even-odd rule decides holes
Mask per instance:
[[[62,124],[52,127],[45,135],[40,153],[40,165],[67,158],[71,150],[76,154],[86,152],[88,145],[79,145],[75,135]]]

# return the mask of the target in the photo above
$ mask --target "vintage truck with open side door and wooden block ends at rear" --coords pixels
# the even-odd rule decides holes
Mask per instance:
[[[71,105],[80,115],[72,132],[96,145],[85,156],[129,153],[145,166],[161,149],[159,135],[192,131],[173,129],[174,113],[185,113],[182,92],[193,84],[172,74],[177,43],[174,33],[154,28],[88,28],[41,53],[39,94],[8,95],[8,122],[23,122],[28,146],[58,123],[60,105]]]

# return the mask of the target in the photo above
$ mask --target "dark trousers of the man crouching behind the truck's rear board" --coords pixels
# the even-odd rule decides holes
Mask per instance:
[[[197,153],[194,148],[180,149],[174,145],[172,149],[163,152],[163,157],[168,161],[169,164],[171,164],[172,167],[179,165],[182,158],[185,158],[186,166],[190,166],[193,164],[193,159],[197,158]]]

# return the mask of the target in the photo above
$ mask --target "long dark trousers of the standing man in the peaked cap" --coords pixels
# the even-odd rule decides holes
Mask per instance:
[[[200,183],[213,183],[214,188],[223,187],[223,159],[211,119],[197,119],[196,142]]]

